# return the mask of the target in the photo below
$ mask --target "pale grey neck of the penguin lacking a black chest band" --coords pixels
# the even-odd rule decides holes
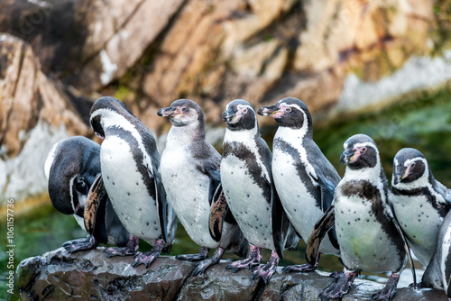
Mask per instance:
[[[198,123],[190,123],[184,126],[174,126],[168,132],[166,147],[183,148],[193,141],[205,140],[205,130],[199,127]]]

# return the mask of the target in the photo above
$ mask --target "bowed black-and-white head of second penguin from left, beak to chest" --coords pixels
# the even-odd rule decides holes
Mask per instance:
[[[115,97],[104,96],[96,100],[91,107],[89,113],[89,123],[98,137],[105,139],[105,131],[103,127],[103,118],[114,117],[114,115],[120,114],[123,116],[133,116],[123,102]]]

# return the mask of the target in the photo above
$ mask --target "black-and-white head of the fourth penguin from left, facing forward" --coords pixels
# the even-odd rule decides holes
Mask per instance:
[[[253,110],[253,105],[243,99],[235,99],[226,105],[223,121],[227,123],[227,129],[232,131],[258,128],[257,115]]]

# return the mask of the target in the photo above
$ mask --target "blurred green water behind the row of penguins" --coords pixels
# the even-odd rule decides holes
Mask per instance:
[[[327,159],[336,166],[340,175],[344,166],[339,163],[344,141],[355,133],[365,133],[373,137],[381,152],[382,164],[389,180],[391,179],[391,164],[394,155],[403,147],[414,147],[422,151],[428,159],[434,176],[451,187],[451,91],[444,89],[433,94],[410,96],[402,103],[392,105],[382,112],[361,114],[358,117],[343,118],[341,121],[316,125],[314,138]],[[415,101],[413,101],[415,100]],[[275,127],[262,129],[267,141],[272,141]],[[3,223],[3,222],[2,222]],[[15,267],[21,260],[37,256],[45,251],[60,247],[62,242],[84,237],[86,234],[78,227],[70,215],[58,213],[50,205],[42,205],[33,214],[19,215],[14,219],[14,259]],[[179,225],[171,254],[195,253],[198,246],[192,242],[183,227]],[[6,238],[2,237],[0,252],[0,285],[5,287],[7,274],[5,255]],[[141,251],[150,250],[142,242]],[[285,259],[280,265],[303,263],[304,245],[299,244],[299,251],[286,251]],[[263,251],[263,260],[270,256],[269,251]],[[235,255],[226,253],[224,259],[236,260]],[[130,258],[132,261],[133,259]],[[332,271],[342,269],[334,256],[323,256],[320,269]],[[0,299],[6,298],[6,290],[0,289]]]

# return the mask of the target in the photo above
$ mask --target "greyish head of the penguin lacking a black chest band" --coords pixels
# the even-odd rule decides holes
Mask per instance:
[[[179,99],[158,110],[157,114],[162,117],[170,117],[174,126],[184,126],[193,123],[204,124],[204,114],[198,104],[189,99]]]

